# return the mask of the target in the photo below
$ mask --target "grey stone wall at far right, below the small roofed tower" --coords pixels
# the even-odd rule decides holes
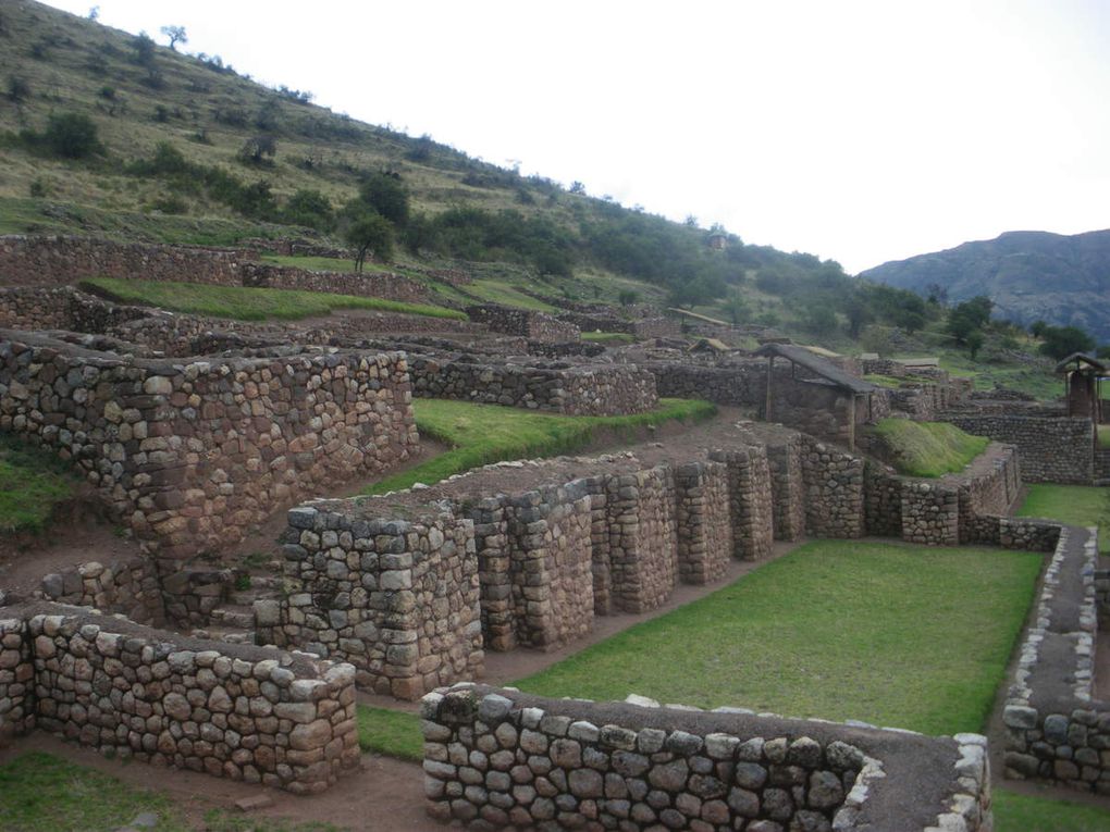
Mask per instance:
[[[1094,426],[1090,419],[973,410],[948,410],[937,418],[975,436],[1016,445],[1026,481],[1072,485],[1094,481]]]

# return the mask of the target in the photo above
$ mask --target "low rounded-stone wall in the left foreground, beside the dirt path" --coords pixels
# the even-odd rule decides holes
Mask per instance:
[[[59,605],[3,613],[0,743],[37,727],[104,753],[297,793],[359,768],[349,664]]]

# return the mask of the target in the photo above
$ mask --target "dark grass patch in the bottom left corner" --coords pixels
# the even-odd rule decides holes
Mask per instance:
[[[171,775],[172,777],[172,775]],[[194,829],[183,808],[164,794],[128,785],[53,754],[30,751],[0,765],[0,824],[4,832],[111,832],[153,812],[157,832]],[[208,832],[339,832],[327,823],[251,819],[222,810],[204,814]]]

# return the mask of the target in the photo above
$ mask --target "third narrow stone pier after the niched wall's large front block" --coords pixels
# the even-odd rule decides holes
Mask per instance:
[[[679,580],[713,584],[725,576],[733,557],[728,466],[687,463],[675,468],[674,478]]]

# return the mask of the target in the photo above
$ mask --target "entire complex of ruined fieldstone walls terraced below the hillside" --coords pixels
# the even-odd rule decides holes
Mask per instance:
[[[882,535],[1054,552],[1007,701],[1006,769],[1110,788],[1104,706],[1090,684],[1093,610],[1110,579],[1091,578],[1094,549],[1076,530],[1008,515],[1022,479],[1098,476],[1090,419],[982,399],[942,372],[837,359],[845,373],[905,379],[849,406],[820,373],[768,371],[759,358],[574,343],[579,325],[674,334],[647,318],[620,329],[586,308],[562,319],[483,306],[471,322],[380,314],[232,329],[41,285],[40,275],[142,274],[425,297],[397,275],[301,273],[234,252],[8,237],[0,274],[17,284],[0,290],[0,325],[12,327],[0,332],[0,429],[71,459],[145,547],[133,560],[47,576],[42,595],[54,602],[0,609],[0,744],[39,728],[155,764],[317,792],[357,765],[357,686],[424,697],[425,784],[441,820],[989,829],[983,738],[470,684],[486,651],[573,645],[596,617],[656,609],[678,584],[718,582],[730,560],[766,558],[774,540]],[[331,483],[404,461],[417,438],[413,395],[589,415],[698,397],[783,425],[745,423],[680,453],[648,444],[306,503],[287,515],[282,591],[253,611],[271,647],[141,626],[206,625],[235,576],[200,568],[202,549]],[[959,475],[899,477],[842,447],[857,425],[889,414],[1000,442]],[[93,606],[140,623],[83,609]],[[1072,688],[1052,681],[1060,667]],[[907,798],[914,771],[930,772],[936,793]]]

